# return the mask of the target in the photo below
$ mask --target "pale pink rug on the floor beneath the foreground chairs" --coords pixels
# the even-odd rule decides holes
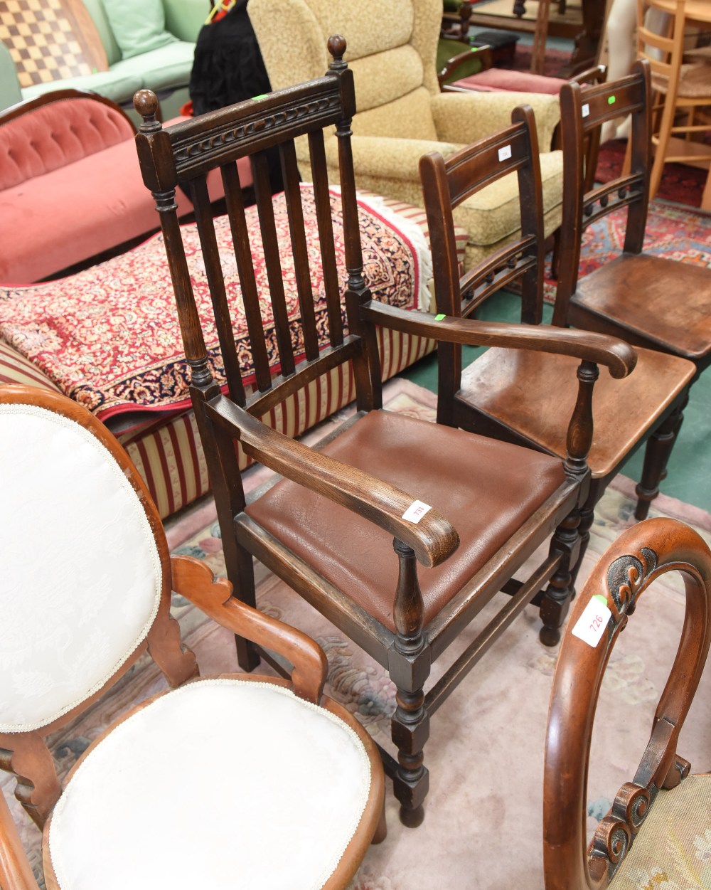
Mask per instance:
[[[385,403],[387,409],[415,417],[434,416],[432,393],[399,379],[386,384]],[[347,411],[341,417],[345,414]],[[332,422],[311,431],[308,441],[318,440],[332,428]],[[255,488],[264,475],[263,469],[246,471],[247,487]],[[631,486],[631,481],[618,477],[602,498],[578,589],[597,558],[633,522]],[[690,522],[711,543],[711,514],[703,510],[659,496],[650,514]],[[169,521],[166,530],[174,552],[196,555],[215,572],[223,572],[222,540],[211,502]],[[257,597],[263,611],[302,628],[319,642],[328,659],[327,694],[358,716],[379,743],[389,747],[395,690],[383,668],[264,570],[259,574]],[[589,829],[608,811],[622,783],[634,775],[674,659],[683,611],[680,579],[663,578],[642,596],[615,648],[595,722],[588,788]],[[216,627],[177,596],[174,614],[204,675],[238,670],[228,631]],[[452,658],[471,642],[486,620],[487,615],[482,615],[459,638],[452,647]],[[369,848],[351,890],[543,890],[543,754],[557,651],[539,643],[539,627],[537,609],[529,607],[432,719],[432,734],[425,748],[431,791],[420,828],[406,829],[400,824],[392,783],[386,783],[388,837],[381,845]],[[448,662],[448,654],[440,660]],[[444,667],[444,663],[435,665],[432,680]],[[264,671],[270,672],[269,668]],[[50,745],[61,778],[117,713],[164,687],[158,669],[149,659],[142,659],[101,703],[58,732]],[[679,746],[679,753],[691,761],[695,772],[711,767],[709,725],[711,667],[702,679]],[[39,873],[39,833],[12,798],[14,780],[4,777],[2,785],[13,811],[20,814],[21,834]],[[146,806],[149,801],[137,801],[136,805]],[[259,818],[258,802],[254,811]],[[209,819],[209,814],[201,818]],[[652,869],[646,877],[641,876],[640,890],[704,886],[694,876],[702,874],[711,857],[711,825],[706,834],[694,838],[691,852],[683,856],[683,882],[673,882]]]

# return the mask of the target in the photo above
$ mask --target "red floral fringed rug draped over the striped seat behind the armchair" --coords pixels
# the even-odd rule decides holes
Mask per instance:
[[[328,344],[326,283],[319,247],[313,187],[301,190],[307,232],[319,344]],[[303,330],[294,255],[283,193],[274,198],[286,309],[295,357],[303,355]],[[392,204],[394,202],[390,202]],[[332,190],[336,269],[339,284],[345,268],[343,210]],[[377,196],[359,198],[364,275],[381,302],[400,308],[427,309],[432,261],[416,223],[395,214]],[[225,288],[232,316],[244,383],[254,380],[246,314],[237,260],[227,217],[214,221]],[[260,297],[270,365],[279,373],[279,352],[269,294],[268,272],[256,206],[246,209],[257,293]],[[207,352],[215,379],[225,375],[217,329],[199,247],[197,226],[182,227],[185,253]],[[345,327],[345,310],[342,307]],[[26,287],[0,288],[0,338],[32,361],[74,401],[106,421],[118,413],[142,409],[165,411],[190,407],[190,374],[184,359],[173,287],[163,236],[69,278]]]

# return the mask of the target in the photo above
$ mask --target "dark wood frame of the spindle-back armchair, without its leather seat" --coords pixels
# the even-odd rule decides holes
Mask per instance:
[[[424,817],[428,772],[423,762],[423,749],[429,734],[430,716],[540,587],[553,587],[558,592],[556,596],[562,600],[570,596],[569,563],[571,559],[574,561],[578,548],[576,510],[586,498],[588,483],[585,431],[589,429],[586,418],[591,410],[592,384],[588,383],[586,369],[599,361],[608,365],[612,373],[624,376],[634,364],[634,356],[626,345],[618,344],[609,337],[578,331],[488,325],[459,318],[435,318],[429,313],[408,312],[373,299],[363,279],[351,160],[351,117],[355,113],[352,73],[343,61],[343,38],[331,37],[328,47],[334,61],[325,77],[253,101],[241,102],[167,129],[163,129],[155,120],[155,97],[147,92],[137,93],[135,106],[143,117],[143,124],[136,141],[144,182],[156,198],[165,234],[183,344],[192,374],[190,392],[206,449],[227,570],[235,586],[235,595],[246,603],[255,603],[253,558],[257,557],[387,668],[398,688],[398,707],[392,718],[392,740],[398,748],[398,760],[387,751],[382,750],[381,754],[385,772],[392,776],[395,794],[400,800],[401,819],[415,826]],[[341,321],[342,296],[335,279],[335,269],[331,271],[335,259],[323,147],[323,130],[330,125],[335,125],[339,144],[348,269],[348,282],[343,295],[347,335]],[[287,206],[296,223],[292,231],[295,257],[304,258],[303,268],[308,269],[303,253],[305,245],[301,240],[303,219],[295,165],[294,139],[298,136],[306,136],[311,149],[322,259],[327,272],[330,345],[319,353],[312,320],[311,285],[304,275],[299,287],[306,357],[297,361],[291,344],[288,341],[280,344],[280,373],[274,376],[263,354],[262,322],[250,265],[250,246],[246,242],[244,217],[238,203],[234,165],[237,158],[250,156],[253,159],[257,207],[262,219],[263,240],[268,243],[273,222],[271,193],[264,180],[263,151],[279,145]],[[206,203],[200,200],[205,190],[206,172],[213,167],[222,169],[245,311],[252,319],[251,342],[257,383],[255,392],[251,394],[246,393],[240,378],[222,270],[214,247],[213,221]],[[223,394],[214,380],[207,359],[205,339],[174,214],[173,196],[179,179],[190,183],[196,206],[198,232],[212,286],[214,313],[220,326],[228,394]],[[454,251],[454,244],[450,247]],[[283,304],[279,252],[275,247],[267,247],[265,256],[267,267],[271,270],[271,302],[276,314],[279,305]],[[330,282],[333,282],[333,287]],[[425,568],[432,568],[453,554],[459,538],[452,525],[434,508],[424,514],[417,524],[408,522],[403,514],[415,500],[412,494],[394,488],[373,473],[345,465],[319,450],[290,440],[258,419],[287,394],[346,360],[352,363],[357,392],[358,414],[351,423],[357,425],[360,420],[367,419],[369,412],[381,409],[376,325],[440,342],[507,344],[513,348],[565,352],[577,356],[585,369],[581,372],[578,406],[570,420],[570,455],[564,466],[565,481],[426,625],[416,562],[421,562]],[[262,344],[259,344],[260,336]],[[343,435],[343,429],[348,433],[349,424],[335,435]],[[466,438],[466,434],[462,434]],[[318,493],[323,498],[324,509],[327,509],[329,502],[343,506],[392,535],[397,554],[393,560],[396,559],[399,566],[397,584],[392,591],[394,633],[248,514],[252,507],[247,504],[242,488],[235,454],[236,443],[249,457],[254,457],[287,481],[298,483],[303,487],[300,490]],[[462,448],[465,449],[465,446],[466,442],[463,441]],[[436,469],[432,469],[432,472],[436,473]],[[442,655],[456,635],[505,587],[527,556],[539,544],[550,540],[556,528],[558,531],[553,538],[550,554],[533,577],[520,587],[511,600],[504,598],[504,608],[490,620],[488,627],[477,635],[440,681],[425,693],[424,684],[434,659]],[[247,670],[256,667],[260,655],[270,658],[269,653],[257,651],[245,641],[238,640],[237,645],[240,664]]]

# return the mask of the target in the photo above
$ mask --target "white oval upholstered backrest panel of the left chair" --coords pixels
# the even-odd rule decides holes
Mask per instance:
[[[148,634],[161,567],[148,518],[101,442],[0,406],[0,732],[51,723]]]

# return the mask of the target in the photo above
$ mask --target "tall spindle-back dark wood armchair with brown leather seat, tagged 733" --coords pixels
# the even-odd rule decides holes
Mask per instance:
[[[255,603],[253,558],[257,557],[388,669],[398,689],[392,718],[398,762],[383,752],[385,771],[393,778],[401,818],[415,826],[424,816],[428,787],[423,749],[430,716],[540,587],[554,590],[556,603],[571,594],[569,566],[578,551],[577,510],[586,497],[588,480],[590,385],[581,384],[575,410],[570,407],[570,455],[564,460],[388,413],[381,410],[376,326],[458,343],[564,352],[582,360],[583,368],[593,368],[595,361],[608,365],[615,376],[625,376],[633,367],[634,352],[609,337],[440,319],[374,299],[363,279],[351,161],[352,73],[343,62],[343,38],[331,37],[328,45],[335,58],[325,77],[168,129],[154,117],[155,96],[138,93],[135,106],[143,124],[136,139],[144,182],[156,198],[165,233],[192,369],[192,400],[236,595]],[[334,125],[340,199],[329,196],[324,151],[324,128]],[[299,137],[308,139],[311,149],[320,263],[313,249],[307,254],[304,190],[294,145]],[[291,320],[285,318],[283,257],[265,179],[264,150],[273,145],[279,145],[301,299],[300,311]],[[236,160],[246,155],[253,162],[264,246],[264,260],[258,252],[254,263],[266,264],[270,280],[271,294],[264,296],[262,305],[235,174]],[[214,248],[214,222],[205,200],[205,176],[214,167],[222,170],[227,195],[241,283],[237,295],[234,288],[230,294],[225,291],[221,257]],[[187,271],[174,213],[179,180],[190,183],[196,206],[227,369],[227,393],[211,371]],[[342,213],[345,260],[337,271],[331,221],[332,214]],[[286,256],[286,236],[281,243]],[[234,264],[235,256],[223,259]],[[344,288],[339,277],[346,282]],[[230,311],[237,312],[242,302],[255,362],[252,391],[243,382],[252,370],[240,368],[230,320]],[[268,355],[265,331],[272,325],[278,342]],[[288,393],[349,361],[358,413],[323,449],[292,441],[259,419]],[[590,373],[586,371],[587,376]],[[575,379],[575,367],[570,376]],[[242,488],[236,445],[285,477],[251,503]],[[507,585],[537,546],[551,539],[553,530],[549,554],[532,576],[516,588],[515,595],[501,597],[497,614],[425,693],[432,662]],[[416,562],[424,566],[419,576]],[[547,614],[544,619],[548,620]],[[258,663],[252,645],[238,641],[238,652],[243,667],[252,669]]]

